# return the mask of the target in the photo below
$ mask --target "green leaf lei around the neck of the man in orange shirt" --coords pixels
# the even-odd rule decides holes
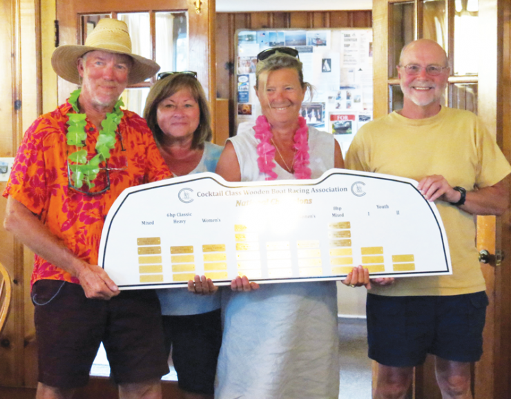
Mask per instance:
[[[121,110],[121,106],[124,106],[122,99],[118,99],[117,103],[113,108],[112,113],[106,114],[106,119],[103,119],[99,130],[99,136],[96,142],[96,155],[93,159],[87,162],[87,150],[81,149],[85,145],[87,139],[87,133],[85,132],[85,126],[87,124],[85,114],[79,113],[78,108],[78,97],[81,93],[81,89],[75,90],[69,96],[69,104],[73,106],[75,113],[68,113],[66,116],[68,119],[68,133],[66,134],[68,146],[77,146],[79,149],[68,156],[69,169],[71,171],[70,179],[76,188],[81,188],[84,182],[88,185],[88,188],[93,188],[95,184],[93,180],[99,173],[99,164],[106,162],[106,159],[110,158],[110,150],[115,147],[115,131],[117,126],[122,119],[124,113]],[[71,164],[70,162],[73,162]]]

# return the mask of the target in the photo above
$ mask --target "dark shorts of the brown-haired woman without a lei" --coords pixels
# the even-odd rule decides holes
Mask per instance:
[[[216,364],[222,344],[220,309],[198,315],[164,315],[167,357],[172,361],[177,383],[184,391],[213,395]]]

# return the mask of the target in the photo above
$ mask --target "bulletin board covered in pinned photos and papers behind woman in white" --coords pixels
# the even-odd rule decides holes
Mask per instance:
[[[261,115],[253,88],[258,53],[296,48],[304,80],[315,88],[302,103],[302,117],[309,126],[333,134],[346,154],[360,126],[372,120],[372,42],[371,28],[237,30],[236,126]]]

